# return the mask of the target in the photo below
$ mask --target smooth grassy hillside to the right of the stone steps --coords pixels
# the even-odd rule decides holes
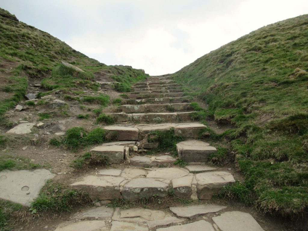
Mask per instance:
[[[221,136],[245,182],[221,196],[266,212],[297,215],[308,208],[308,15],[247,34],[172,76],[197,92],[207,115],[233,124]]]

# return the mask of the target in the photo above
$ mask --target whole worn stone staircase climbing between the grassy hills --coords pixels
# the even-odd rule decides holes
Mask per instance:
[[[118,141],[91,149],[107,156],[110,167],[80,178],[72,187],[100,201],[166,197],[170,193],[185,199],[208,200],[235,181],[228,171],[205,164],[216,148],[195,140],[206,126],[191,120],[194,111],[189,97],[183,96],[180,85],[168,76],[148,77],[137,83],[124,102],[127,104],[109,108],[117,124],[104,127],[115,132]],[[158,146],[144,142],[147,134],[168,130],[186,139],[176,144],[178,157],[168,153],[145,155],[148,149]],[[174,166],[177,159],[188,165]]]

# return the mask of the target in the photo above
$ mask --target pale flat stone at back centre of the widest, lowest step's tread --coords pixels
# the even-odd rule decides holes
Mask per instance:
[[[150,171],[147,178],[161,178],[166,180],[172,180],[187,176],[189,173],[180,168],[156,168]]]

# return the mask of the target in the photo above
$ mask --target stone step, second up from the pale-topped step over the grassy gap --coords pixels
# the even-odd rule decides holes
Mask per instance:
[[[193,107],[190,103],[162,103],[162,104],[141,104],[141,105],[121,105],[110,107],[111,110],[115,108],[125,113],[138,112],[167,112],[167,111],[192,111]]]

